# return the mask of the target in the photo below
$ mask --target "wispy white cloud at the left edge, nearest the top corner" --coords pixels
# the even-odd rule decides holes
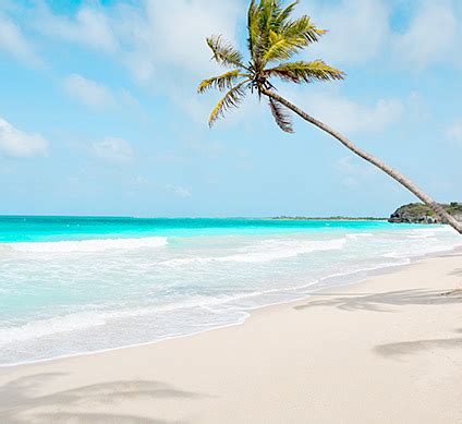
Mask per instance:
[[[0,15],[0,50],[14,56],[17,60],[33,66],[41,66],[41,60],[35,54],[21,28]]]

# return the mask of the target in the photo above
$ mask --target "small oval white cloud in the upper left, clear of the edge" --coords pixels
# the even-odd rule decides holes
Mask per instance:
[[[96,109],[115,104],[114,96],[108,87],[78,74],[69,75],[64,80],[64,88],[71,97]]]

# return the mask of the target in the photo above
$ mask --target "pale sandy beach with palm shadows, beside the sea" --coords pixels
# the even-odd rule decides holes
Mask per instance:
[[[454,253],[242,326],[0,368],[0,423],[462,423],[455,289]]]

